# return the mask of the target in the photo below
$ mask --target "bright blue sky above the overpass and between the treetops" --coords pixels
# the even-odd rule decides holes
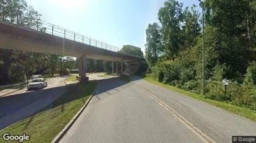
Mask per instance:
[[[179,0],[184,7],[197,0]],[[109,45],[133,45],[145,52],[146,28],[158,21],[163,0],[27,0],[41,20]],[[197,7],[200,11],[200,7]]]

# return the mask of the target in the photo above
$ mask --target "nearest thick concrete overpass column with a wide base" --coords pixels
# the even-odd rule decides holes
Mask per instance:
[[[77,76],[77,80],[82,83],[87,83],[89,78],[86,77],[86,55],[78,58],[78,69],[79,76]]]

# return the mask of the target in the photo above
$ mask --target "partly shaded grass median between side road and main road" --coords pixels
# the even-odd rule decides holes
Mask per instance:
[[[0,142],[11,142],[2,139],[4,132],[26,133],[30,136],[26,142],[51,142],[82,108],[96,87],[97,82],[70,85],[67,92],[55,102],[0,131]]]

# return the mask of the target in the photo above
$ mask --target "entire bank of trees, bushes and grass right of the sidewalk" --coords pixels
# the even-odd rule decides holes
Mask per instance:
[[[256,1],[207,0],[203,6],[206,94],[202,96],[202,17],[196,6],[183,7],[176,0],[159,9],[161,26],[153,23],[146,29],[145,79],[255,120]],[[227,93],[222,79],[229,80]]]

